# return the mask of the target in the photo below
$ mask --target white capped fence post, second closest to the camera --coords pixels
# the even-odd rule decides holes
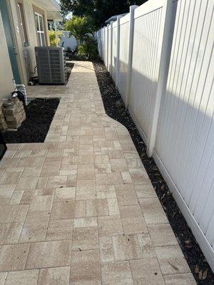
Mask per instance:
[[[126,79],[126,109],[128,109],[130,85],[131,85],[131,68],[133,57],[133,32],[134,32],[134,12],[138,6],[130,6],[130,19],[129,19],[129,37],[128,37],[128,71]]]

